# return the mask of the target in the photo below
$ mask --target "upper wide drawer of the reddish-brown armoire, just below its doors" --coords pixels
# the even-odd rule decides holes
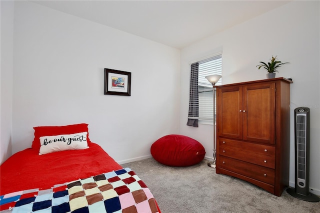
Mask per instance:
[[[218,138],[217,153],[269,168],[275,166],[274,146]]]

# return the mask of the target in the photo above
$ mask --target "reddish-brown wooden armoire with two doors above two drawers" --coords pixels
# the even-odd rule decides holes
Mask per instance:
[[[216,86],[216,173],[281,196],[289,180],[290,83],[278,77]]]

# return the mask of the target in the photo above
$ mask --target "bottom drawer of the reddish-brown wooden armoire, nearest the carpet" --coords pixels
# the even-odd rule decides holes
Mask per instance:
[[[274,184],[274,169],[233,159],[223,155],[218,155],[217,160],[219,168],[224,168],[271,185]]]

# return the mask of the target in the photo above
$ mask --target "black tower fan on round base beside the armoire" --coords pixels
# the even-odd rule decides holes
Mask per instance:
[[[295,188],[286,191],[299,199],[318,202],[320,198],[309,192],[310,109],[294,109]]]

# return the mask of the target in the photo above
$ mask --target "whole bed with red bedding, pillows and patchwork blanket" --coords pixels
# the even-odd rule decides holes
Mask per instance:
[[[0,165],[0,212],[160,212],[145,183],[86,123],[37,126],[30,148]]]

